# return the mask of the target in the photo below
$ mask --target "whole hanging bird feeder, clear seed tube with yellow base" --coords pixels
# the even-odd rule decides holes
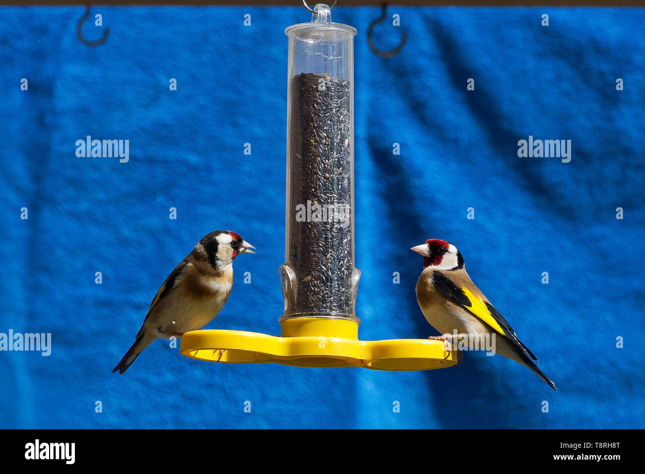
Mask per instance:
[[[441,341],[358,339],[355,301],[361,271],[355,268],[353,225],[356,30],[332,23],[327,5],[310,11],[310,23],[285,31],[289,61],[281,336],[190,331],[181,338],[181,353],[228,364],[375,370],[452,366],[457,351],[446,352]]]

